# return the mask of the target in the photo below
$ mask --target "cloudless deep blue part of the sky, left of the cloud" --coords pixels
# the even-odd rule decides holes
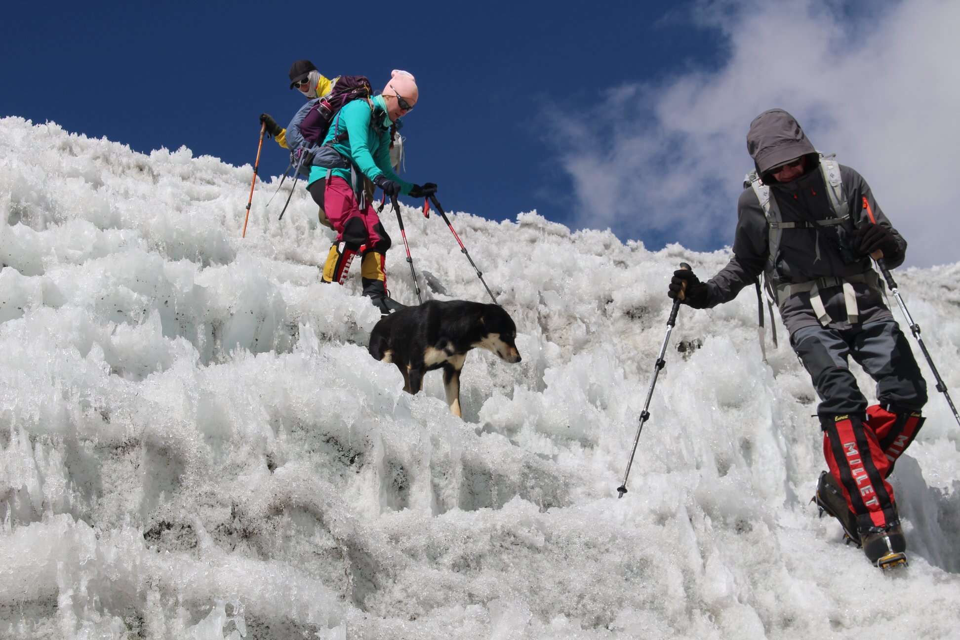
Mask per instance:
[[[567,222],[575,202],[546,107],[583,109],[613,85],[716,55],[708,33],[663,19],[674,3],[311,4],[12,3],[0,113],[244,164],[259,113],[282,126],[302,104],[293,60],[375,89],[406,69],[420,104],[406,118],[405,178],[439,183],[447,208]],[[286,154],[265,150],[261,173],[282,173]]]

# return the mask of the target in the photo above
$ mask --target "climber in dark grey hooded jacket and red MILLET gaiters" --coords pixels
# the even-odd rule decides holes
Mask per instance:
[[[906,241],[867,181],[818,154],[786,111],[758,115],[747,150],[756,173],[737,205],[730,263],[707,282],[675,272],[668,296],[709,308],[764,276],[821,399],[829,472],[821,474],[817,503],[882,565],[905,549],[886,478],[923,425],[926,384],[883,303],[871,257],[898,267]],[[876,380],[875,405],[858,389],[848,356]]]

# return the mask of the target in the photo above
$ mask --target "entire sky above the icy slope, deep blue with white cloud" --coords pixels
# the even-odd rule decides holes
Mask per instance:
[[[907,264],[960,259],[936,230],[960,200],[943,145],[960,137],[950,0],[9,5],[0,115],[242,165],[259,113],[285,124],[302,104],[293,60],[377,89],[406,69],[420,103],[404,177],[437,182],[447,209],[720,249],[747,127],[781,107],[924,247]],[[261,175],[286,162],[265,143]]]

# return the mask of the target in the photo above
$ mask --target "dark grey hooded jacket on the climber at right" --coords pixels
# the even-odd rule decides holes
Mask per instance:
[[[747,149],[754,157],[757,172],[761,176],[782,162],[801,155],[807,157],[806,171],[800,178],[785,184],[780,184],[772,177],[764,179],[764,183],[770,185],[771,197],[776,199],[780,207],[783,222],[812,222],[835,217],[819,168],[818,154],[793,116],[781,109],[761,113],[747,134]],[[780,258],[773,273],[768,274],[774,283],[800,283],[819,277],[870,273],[870,258],[854,255],[851,249],[853,226],[870,224],[864,199],[874,214],[876,224],[889,227],[897,237],[900,250],[896,255],[884,256],[887,266],[894,269],[903,263],[906,241],[890,225],[867,181],[844,165],[840,165],[840,175],[852,222],[849,225],[784,229],[780,240]],[[748,187],[737,202],[732,260],[708,280],[707,306],[728,302],[745,286],[753,284],[767,266],[768,252],[767,220],[754,190]],[[892,318],[883,303],[882,294],[876,288],[865,282],[857,282],[853,284],[853,289],[860,323]],[[832,320],[828,326],[850,328],[842,287],[821,287],[820,296]],[[780,317],[791,335],[801,327],[820,325],[808,293],[781,296],[779,306]]]

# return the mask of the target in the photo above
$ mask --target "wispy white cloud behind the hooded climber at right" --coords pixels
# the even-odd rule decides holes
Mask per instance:
[[[789,11],[787,11],[789,8]],[[710,3],[725,60],[613,88],[582,121],[553,114],[578,200],[574,226],[732,242],[751,120],[781,107],[856,168],[907,239],[907,264],[960,260],[960,3]]]

